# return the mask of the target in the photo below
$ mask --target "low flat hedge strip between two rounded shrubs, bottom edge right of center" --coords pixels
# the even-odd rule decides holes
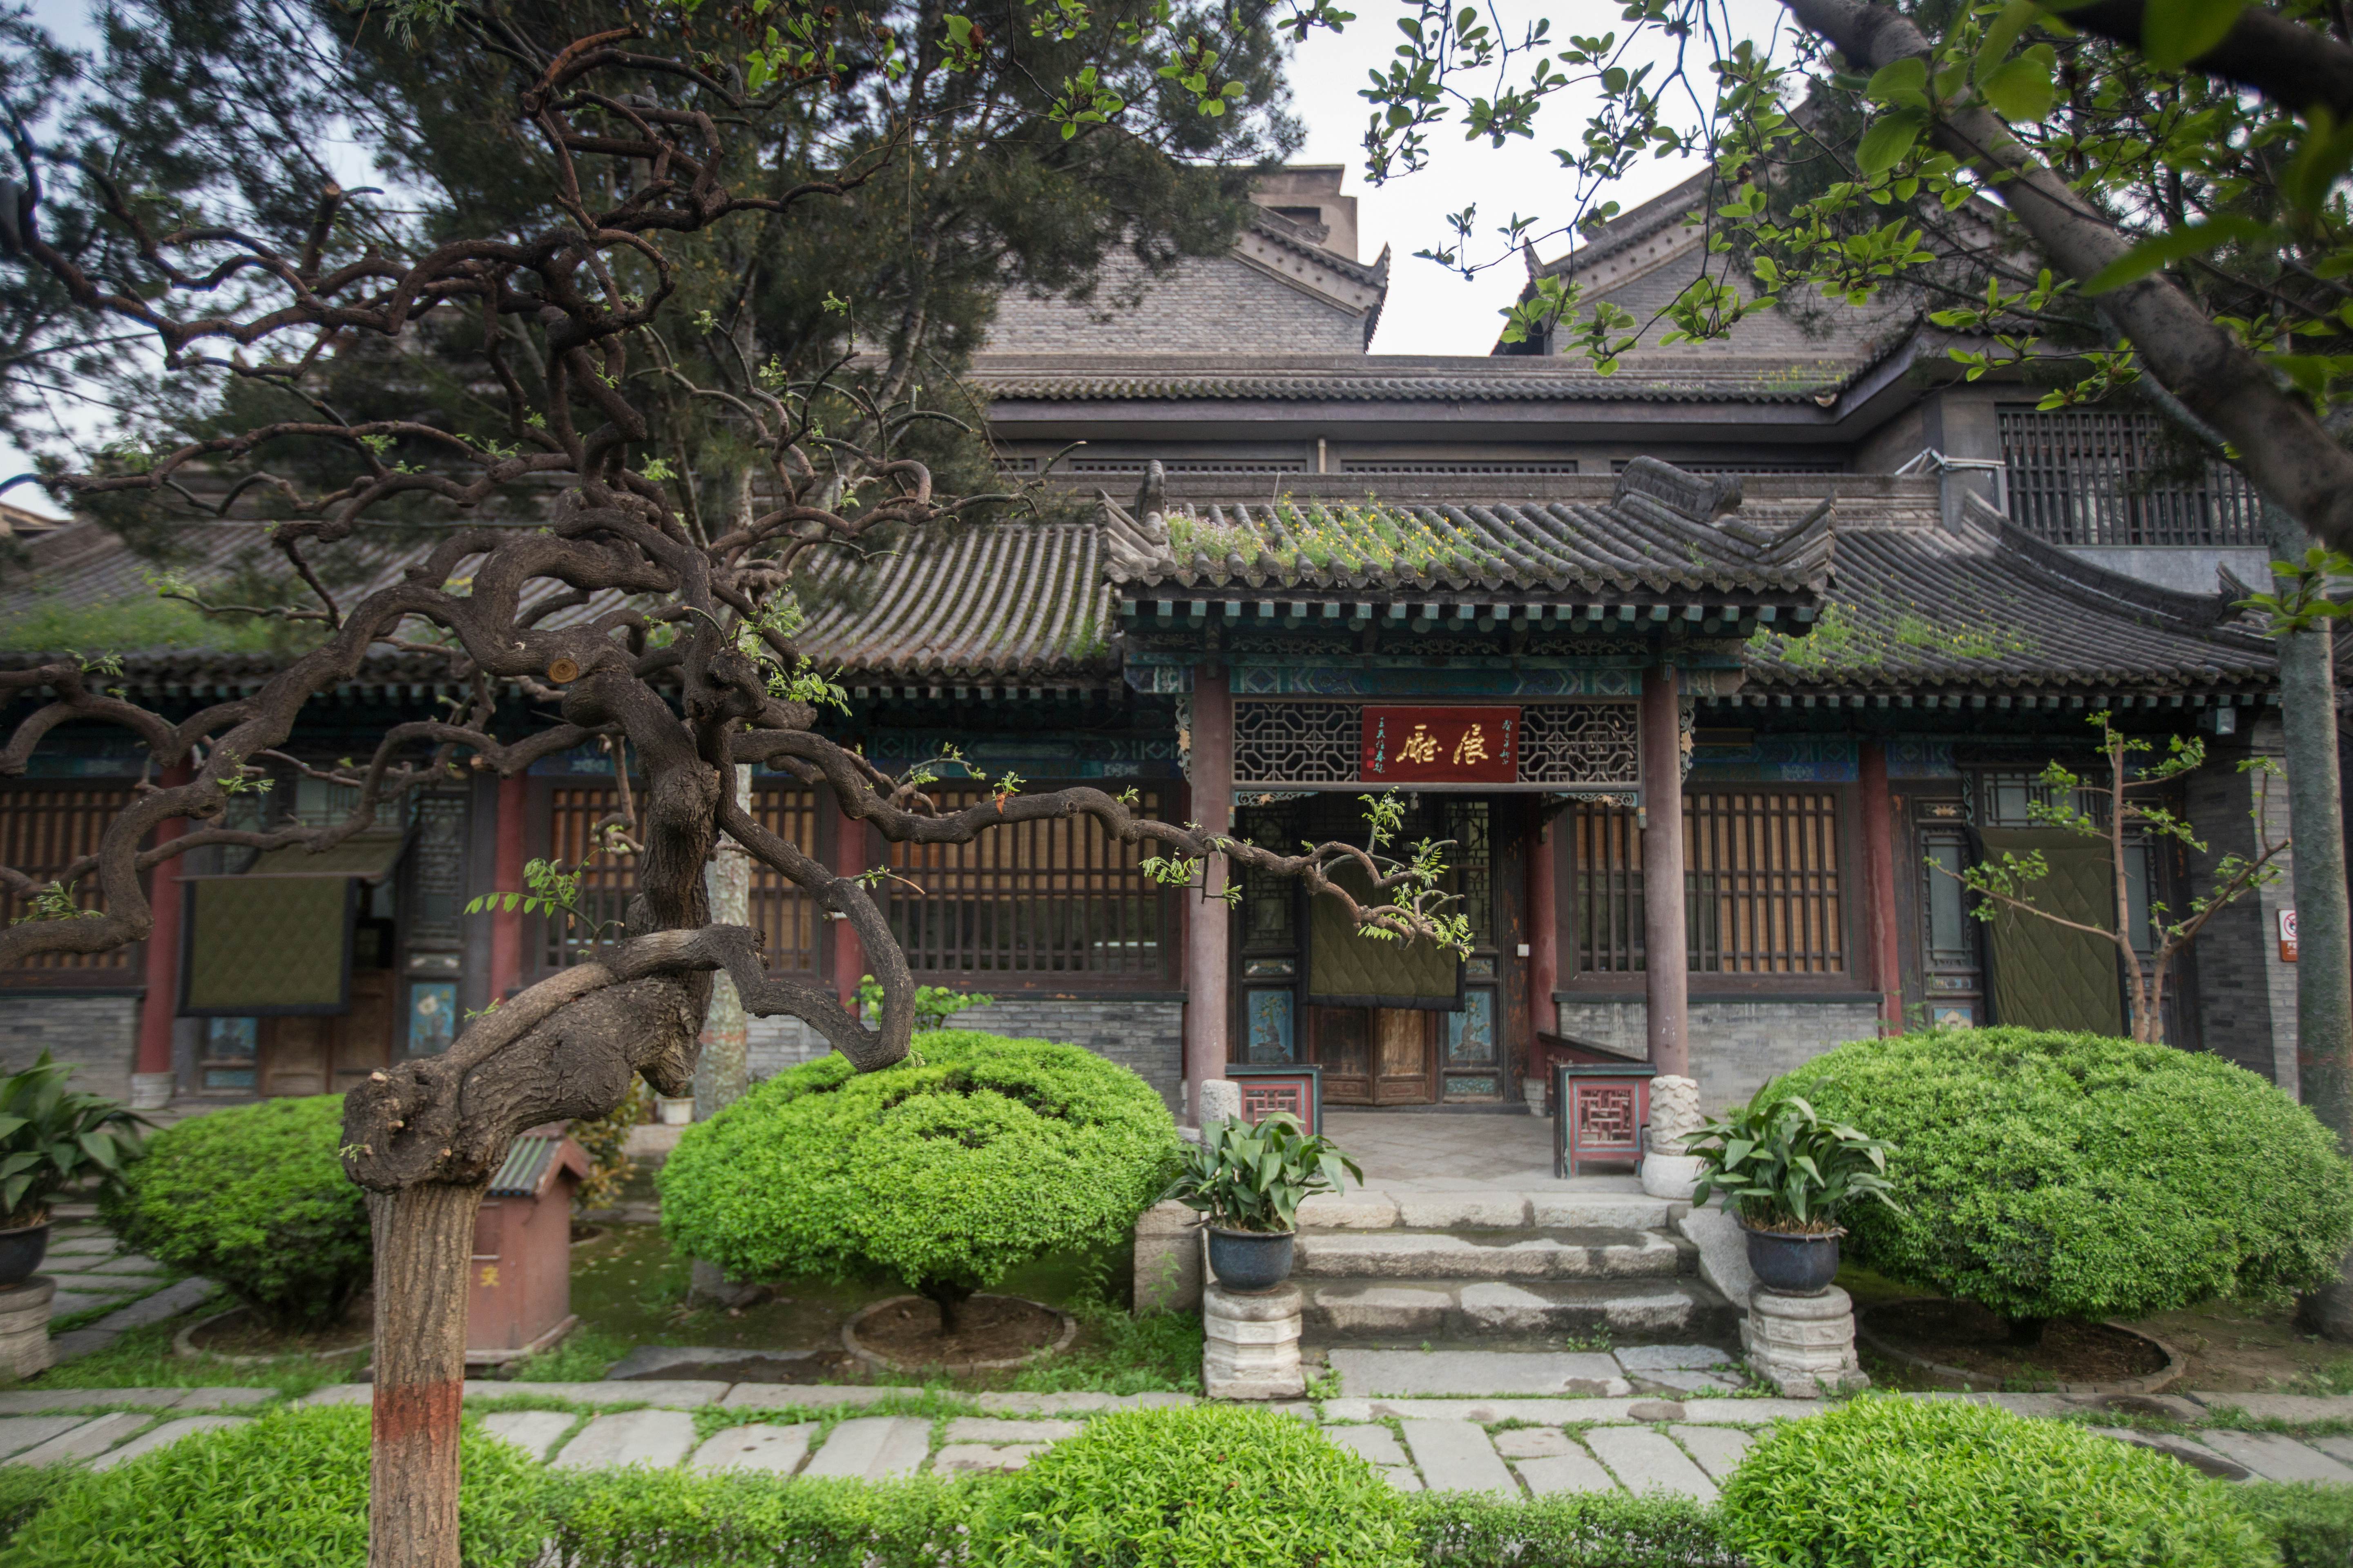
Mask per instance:
[[[1744,1568],[1708,1509],[1687,1497],[1475,1493],[1407,1497],[1421,1559],[1445,1568]]]

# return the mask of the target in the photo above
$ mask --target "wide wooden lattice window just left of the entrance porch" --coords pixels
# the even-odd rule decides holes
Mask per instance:
[[[932,790],[944,811],[988,799]],[[1141,816],[1158,816],[1144,790]],[[1094,818],[1009,823],[969,844],[892,844],[882,912],[920,976],[1167,978],[1167,896],[1136,865],[1146,844],[1111,839]]]

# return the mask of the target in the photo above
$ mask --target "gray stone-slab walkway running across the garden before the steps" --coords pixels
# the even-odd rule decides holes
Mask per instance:
[[[365,1403],[367,1385],[327,1387],[301,1403]],[[499,1410],[499,1399],[532,1394],[572,1410]],[[904,1399],[906,1389],[809,1387],[779,1382],[468,1382],[482,1425],[558,1469],[689,1465],[774,1476],[955,1474],[1019,1469],[1075,1436],[1089,1415],[1139,1406],[1193,1403],[1186,1394],[976,1394],[972,1415],[852,1415],[821,1432],[821,1413]],[[2007,1406],[2021,1415],[2097,1413],[2089,1396],[1920,1394]],[[0,1462],[87,1462],[106,1469],[193,1432],[245,1420],[275,1401],[271,1389],[14,1389],[0,1392]],[[696,1410],[741,1413],[696,1436]],[[2221,1408],[2259,1420],[2353,1420],[2353,1396],[2169,1394],[2153,1406],[2198,1425]],[[1715,1497],[1758,1434],[1774,1422],[1817,1415],[1798,1399],[1325,1399],[1273,1406],[1318,1422],[1400,1490],[1471,1490],[1499,1497],[1631,1490]],[[774,1415],[767,1415],[774,1413]],[[2275,1432],[2207,1427],[2195,1434],[2104,1429],[2165,1450],[2233,1481],[2353,1483],[2353,1439],[2297,1439]]]

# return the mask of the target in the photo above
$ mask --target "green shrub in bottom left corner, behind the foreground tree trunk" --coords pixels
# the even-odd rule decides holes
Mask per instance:
[[[548,1472],[473,1422],[459,1439],[466,1568],[527,1568],[546,1540]],[[9,1568],[362,1568],[367,1410],[271,1410],[104,1474],[64,1479],[16,1530]]]

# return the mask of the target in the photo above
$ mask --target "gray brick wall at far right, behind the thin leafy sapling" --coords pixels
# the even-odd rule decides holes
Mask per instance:
[[[2278,722],[2259,722],[2254,750],[2278,752]],[[2287,790],[2273,780],[2268,830],[2287,832]],[[2191,891],[2214,886],[2214,863],[2228,853],[2254,853],[2252,778],[2228,757],[2217,757],[2184,783],[2191,832],[2207,853],[2191,856]],[[2287,1093],[2297,1093],[2297,969],[2280,964],[2278,914],[2294,893],[2285,879],[2242,898],[2198,933],[2191,957],[2198,966],[2198,1039]]]

